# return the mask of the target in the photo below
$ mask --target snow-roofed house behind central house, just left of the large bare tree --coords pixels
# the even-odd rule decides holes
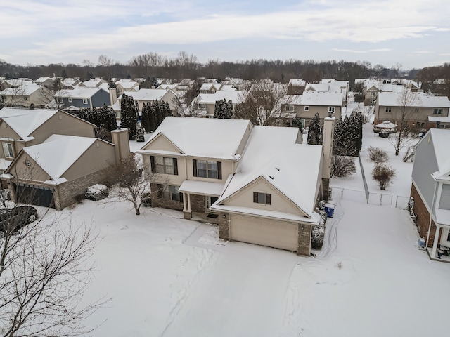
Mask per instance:
[[[218,100],[231,100],[233,110],[236,104],[242,103],[245,91],[216,91],[216,93],[199,93],[192,101],[191,109],[195,110],[198,117],[214,118],[214,110]]]

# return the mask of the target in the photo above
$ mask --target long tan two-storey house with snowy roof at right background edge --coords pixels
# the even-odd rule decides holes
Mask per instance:
[[[405,96],[404,89],[400,93],[381,92],[378,93],[375,104],[374,123],[392,121],[399,124],[401,115],[404,114],[408,125],[428,129],[436,126],[428,117],[448,117],[449,109],[450,101],[445,96],[430,96],[411,91]]]

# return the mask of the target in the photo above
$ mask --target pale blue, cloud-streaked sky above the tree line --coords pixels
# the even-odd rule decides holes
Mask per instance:
[[[449,0],[0,0],[0,59],[119,62],[150,51],[208,60],[450,62]]]

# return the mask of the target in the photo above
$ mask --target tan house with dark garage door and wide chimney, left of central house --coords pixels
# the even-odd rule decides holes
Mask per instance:
[[[1,178],[11,199],[64,209],[89,186],[108,181],[110,166],[130,155],[128,130],[111,132],[113,143],[91,137],[53,135],[24,147]]]

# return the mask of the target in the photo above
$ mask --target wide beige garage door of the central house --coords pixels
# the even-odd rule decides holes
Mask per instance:
[[[298,225],[282,221],[230,215],[230,238],[235,241],[297,251]]]

